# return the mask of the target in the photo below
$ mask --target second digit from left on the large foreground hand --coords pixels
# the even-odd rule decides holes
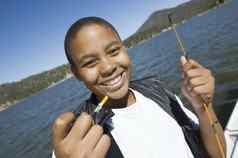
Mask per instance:
[[[88,132],[88,130],[91,128],[91,126],[92,126],[92,117],[87,113],[83,112],[75,121],[67,137],[69,137],[69,139],[71,138],[77,141],[82,140],[83,137]]]

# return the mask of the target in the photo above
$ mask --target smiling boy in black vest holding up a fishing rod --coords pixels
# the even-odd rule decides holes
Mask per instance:
[[[182,93],[196,117],[155,77],[130,81],[132,66],[127,50],[115,28],[104,19],[87,17],[74,23],[66,34],[65,51],[73,74],[92,96],[81,105],[79,117],[67,112],[56,119],[53,145],[57,158],[221,157],[198,99],[209,98],[208,108],[217,120],[211,105],[214,78],[208,69],[181,58]],[[109,101],[92,117],[104,96]],[[224,150],[223,131],[215,122]],[[184,130],[187,126],[195,132]]]

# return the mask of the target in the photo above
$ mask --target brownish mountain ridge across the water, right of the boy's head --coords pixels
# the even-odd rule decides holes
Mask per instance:
[[[192,0],[174,8],[156,11],[124,43],[127,47],[132,47],[143,40],[158,35],[162,30],[170,27],[169,14],[171,14],[173,23],[177,24],[224,2],[224,0]]]

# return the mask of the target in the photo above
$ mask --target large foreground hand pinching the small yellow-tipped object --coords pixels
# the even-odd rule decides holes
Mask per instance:
[[[76,121],[75,119],[72,112],[67,112],[61,114],[54,122],[53,147],[56,157],[106,157],[111,140],[103,134],[103,128],[93,125],[92,117],[87,113],[82,113]]]

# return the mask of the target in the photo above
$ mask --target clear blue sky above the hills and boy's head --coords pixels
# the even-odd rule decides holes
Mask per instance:
[[[64,36],[77,19],[99,16],[127,38],[157,10],[188,0],[0,0],[0,84],[67,63]]]

